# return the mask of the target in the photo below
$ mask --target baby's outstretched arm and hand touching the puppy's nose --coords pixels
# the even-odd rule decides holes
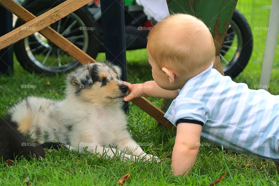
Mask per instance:
[[[133,98],[154,97],[163,99],[175,99],[178,96],[176,90],[165,90],[161,88],[155,81],[146,81],[145,83],[131,84],[124,83],[129,87],[130,94],[124,98],[124,101],[130,101]]]

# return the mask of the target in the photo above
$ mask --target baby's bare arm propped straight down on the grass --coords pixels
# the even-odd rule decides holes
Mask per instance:
[[[194,166],[200,146],[202,126],[195,123],[179,123],[172,153],[174,175],[186,176]]]

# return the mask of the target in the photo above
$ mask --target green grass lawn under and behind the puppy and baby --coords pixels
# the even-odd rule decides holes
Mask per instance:
[[[271,0],[239,0],[238,10],[251,25],[254,48],[251,59],[244,71],[234,80],[247,83],[251,89],[259,84],[266,30],[254,27],[267,27]],[[97,60],[104,59],[99,54]],[[128,81],[140,83],[152,79],[151,69],[145,49],[127,52]],[[269,91],[279,94],[279,51],[276,51]],[[65,74],[47,76],[30,74],[16,61],[14,74],[0,75],[0,116],[17,101],[27,96],[40,96],[49,99],[63,99]],[[50,85],[46,85],[48,81]],[[22,88],[29,85],[33,88]],[[158,107],[162,100],[148,98]],[[123,163],[119,158],[105,159],[95,155],[81,155],[65,149],[47,150],[42,160],[30,162],[21,160],[13,166],[1,163],[0,185],[26,185],[29,178],[32,185],[116,185],[117,180],[131,173],[126,185],[208,185],[227,173],[219,185],[278,185],[279,175],[271,161],[263,161],[251,156],[222,152],[222,149],[203,142],[195,166],[189,176],[172,176],[171,152],[173,144],[169,138],[175,131],[162,128],[149,115],[133,103],[129,103],[128,130],[135,141],[149,154],[162,159],[161,163]]]

